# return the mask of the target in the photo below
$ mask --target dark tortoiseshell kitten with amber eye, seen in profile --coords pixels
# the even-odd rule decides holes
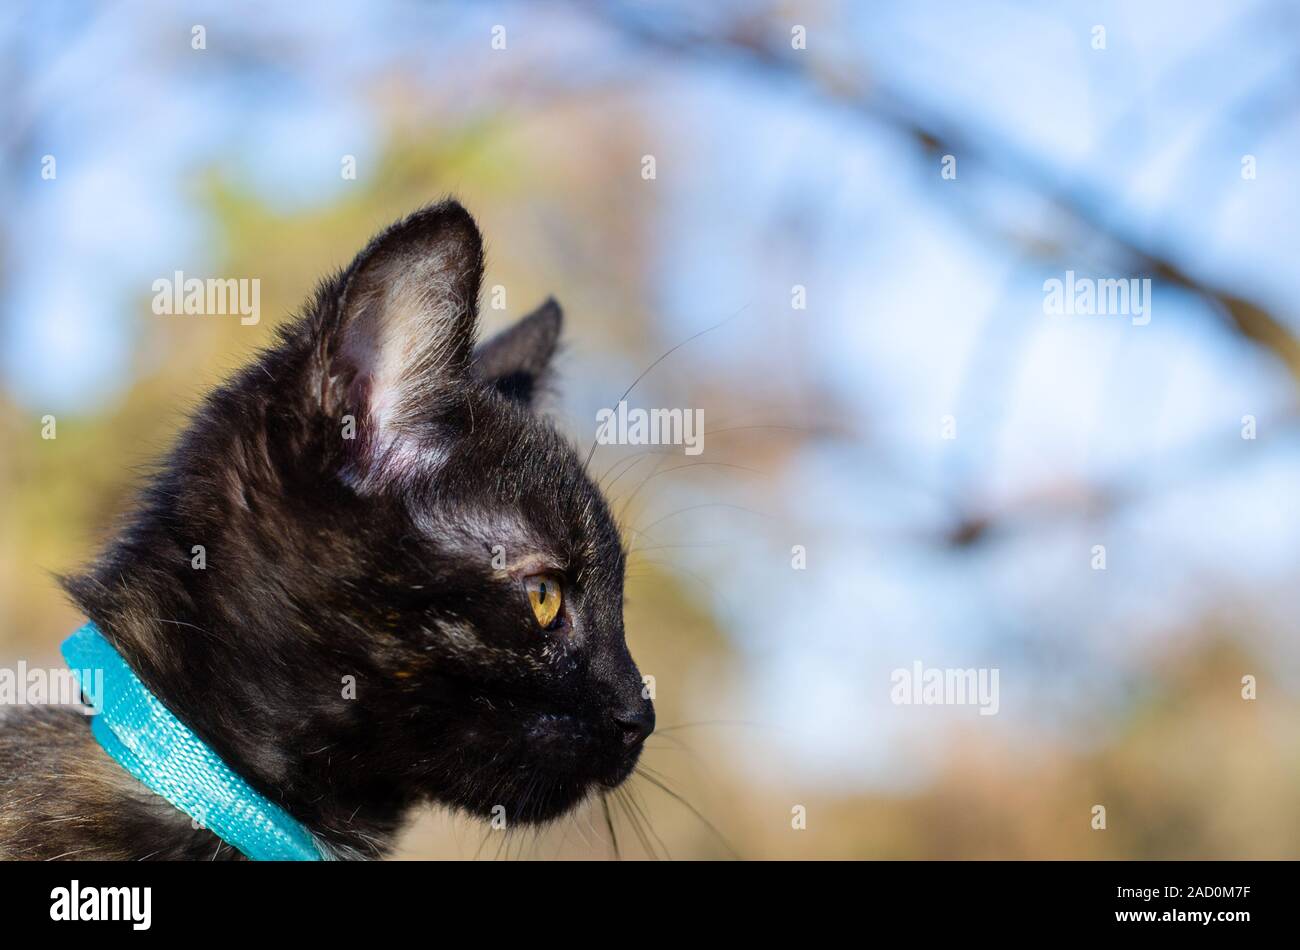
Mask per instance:
[[[329,856],[390,854],[430,802],[551,821],[623,782],[654,729],[620,534],[536,411],[560,308],[476,348],[482,268],[454,200],[382,231],[205,399],[107,552],[64,578]],[[36,706],[0,719],[0,856],[244,855],[86,715]]]

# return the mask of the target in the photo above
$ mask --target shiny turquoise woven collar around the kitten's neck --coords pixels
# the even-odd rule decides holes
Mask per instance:
[[[254,860],[321,860],[311,832],[260,795],[150,693],[94,623],[64,641],[64,659],[99,710],[91,732],[117,763]],[[103,671],[99,686],[83,674]]]

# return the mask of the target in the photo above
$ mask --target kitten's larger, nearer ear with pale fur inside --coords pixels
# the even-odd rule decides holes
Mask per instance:
[[[374,238],[347,269],[326,339],[330,408],[363,412],[384,444],[456,402],[469,378],[482,238],[443,201]]]

